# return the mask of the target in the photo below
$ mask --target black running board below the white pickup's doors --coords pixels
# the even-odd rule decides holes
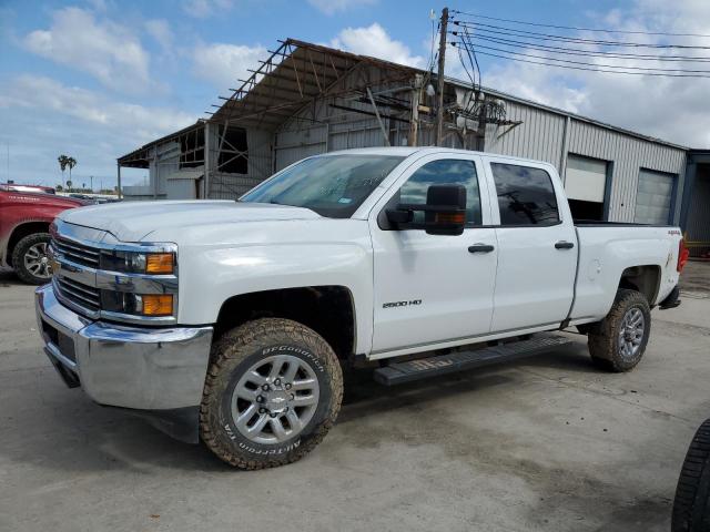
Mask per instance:
[[[405,362],[393,362],[375,370],[375,381],[385,386],[400,385],[413,380],[525,358],[547,352],[567,344],[571,344],[571,340],[565,336],[540,334],[527,340],[501,344],[473,351],[456,351]]]

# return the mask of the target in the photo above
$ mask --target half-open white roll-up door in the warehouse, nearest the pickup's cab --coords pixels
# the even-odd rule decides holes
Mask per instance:
[[[565,170],[565,192],[575,219],[602,221],[609,162],[570,153]]]

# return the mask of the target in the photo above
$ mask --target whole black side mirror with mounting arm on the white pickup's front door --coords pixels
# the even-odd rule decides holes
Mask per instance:
[[[426,204],[400,203],[386,211],[387,221],[397,228],[422,228],[413,224],[414,212],[424,212],[424,231],[429,235],[460,235],[466,225],[466,187],[464,185],[429,185]],[[405,226],[405,227],[403,227]]]

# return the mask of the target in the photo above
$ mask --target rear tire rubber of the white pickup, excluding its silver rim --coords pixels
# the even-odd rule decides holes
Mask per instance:
[[[643,314],[645,331],[640,348],[632,359],[625,359],[619,352],[619,331],[622,326],[623,316],[632,307],[638,308]],[[651,332],[651,308],[646,297],[636,290],[620,288],[613,300],[609,314],[588,332],[589,354],[594,362],[608,371],[623,372],[633,369],[648,344]]]

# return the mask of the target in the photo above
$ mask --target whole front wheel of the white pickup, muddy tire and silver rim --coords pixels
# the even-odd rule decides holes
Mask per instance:
[[[257,319],[213,346],[200,434],[236,468],[283,466],[323,440],[342,399],[341,366],[320,335],[296,321]]]

